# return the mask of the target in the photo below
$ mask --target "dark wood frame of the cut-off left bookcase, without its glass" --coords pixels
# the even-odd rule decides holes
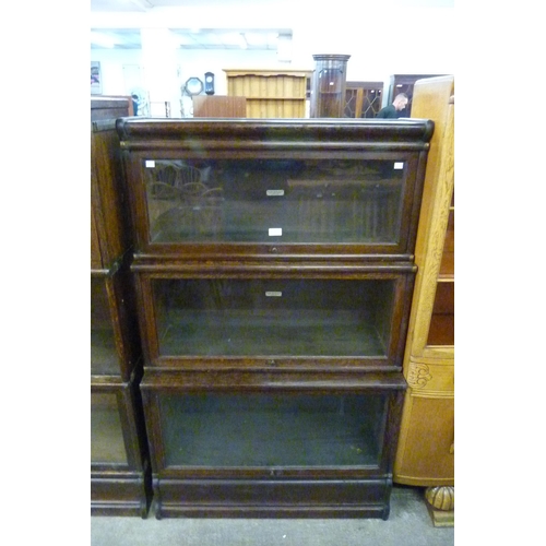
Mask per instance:
[[[145,517],[152,490],[138,389],[142,349],[129,270],[132,226],[115,127],[116,118],[131,115],[130,97],[91,98],[91,277],[105,283],[119,366],[109,373],[92,371],[91,391],[116,394],[128,458],[127,465],[91,463],[91,512]]]

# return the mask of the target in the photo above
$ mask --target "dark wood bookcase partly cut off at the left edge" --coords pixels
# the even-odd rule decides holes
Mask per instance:
[[[91,509],[145,515],[150,456],[131,228],[115,120],[127,98],[91,100]]]

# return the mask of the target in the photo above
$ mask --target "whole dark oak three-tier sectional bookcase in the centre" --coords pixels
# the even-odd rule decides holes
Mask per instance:
[[[387,519],[432,122],[117,130],[156,515]]]

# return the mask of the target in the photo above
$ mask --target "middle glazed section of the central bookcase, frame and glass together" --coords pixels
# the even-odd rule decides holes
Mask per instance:
[[[401,369],[410,268],[249,274],[141,273],[146,365]]]

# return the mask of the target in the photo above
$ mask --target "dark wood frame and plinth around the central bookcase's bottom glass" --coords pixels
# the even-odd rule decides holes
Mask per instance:
[[[149,369],[141,384],[151,431],[155,513],[193,518],[389,517],[405,382],[399,373],[180,372]],[[378,393],[387,396],[379,464],[351,467],[183,468],[165,463],[162,393]],[[296,500],[297,499],[297,500]]]

